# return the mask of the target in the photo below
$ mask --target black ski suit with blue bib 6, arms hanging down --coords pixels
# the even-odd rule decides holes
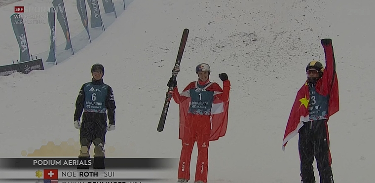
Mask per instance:
[[[104,169],[107,133],[107,114],[109,124],[115,123],[115,102],[111,86],[103,79],[94,80],[82,85],[75,102],[74,120],[79,120],[82,111],[82,123],[79,130],[81,144],[79,159],[90,158],[89,149],[94,144],[94,169]],[[78,169],[88,169],[88,166],[78,166]]]

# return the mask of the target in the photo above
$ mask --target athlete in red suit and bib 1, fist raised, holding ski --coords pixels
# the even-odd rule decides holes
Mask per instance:
[[[179,68],[176,67],[173,72],[179,72]],[[180,115],[180,139],[182,139],[182,150],[177,183],[187,183],[190,179],[190,160],[195,141],[198,146],[198,158],[194,182],[207,183],[209,142],[217,140],[219,136],[224,136],[226,131],[228,105],[224,105],[224,107],[221,105],[221,107],[218,107],[220,105],[214,104],[214,101],[220,100],[221,104],[227,104],[229,102],[230,82],[227,74],[219,74],[220,79],[223,81],[224,89],[222,89],[219,84],[210,82],[209,65],[199,64],[196,67],[196,73],[198,74],[198,81],[190,82],[181,94],[178,92],[177,81],[173,80],[172,77],[167,84],[170,87],[174,87],[172,96],[177,104],[181,105],[182,103],[187,102],[187,100],[189,102],[189,106],[186,108],[188,109],[186,120],[183,125],[181,125]],[[212,128],[214,128],[214,120],[212,116],[215,115],[215,113],[218,113],[218,109],[220,111],[226,111],[226,114],[225,112],[220,112],[221,114],[224,113],[224,117],[222,118],[225,118],[225,120],[219,120],[223,121],[221,123],[225,123],[225,125],[224,130],[221,132],[222,135],[213,135],[216,132],[213,132],[212,130]],[[186,111],[183,112],[186,113]],[[215,121],[217,120],[215,119]]]

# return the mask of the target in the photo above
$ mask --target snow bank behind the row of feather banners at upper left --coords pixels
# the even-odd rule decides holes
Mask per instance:
[[[16,37],[14,36],[12,24],[10,21],[10,16],[14,14],[14,6],[24,6],[25,8],[25,12],[19,14],[23,17],[24,20],[30,54],[33,55],[34,59],[36,56],[38,56],[38,58],[42,58],[43,61],[47,59],[50,46],[50,28],[48,25],[47,12],[52,6],[52,1],[53,0],[13,0],[13,3],[0,7],[0,22],[2,25],[0,27],[0,32],[2,34],[2,36],[0,37],[0,49],[6,50],[1,52],[0,66],[12,64],[12,61],[16,63],[17,59],[19,59],[19,47]],[[132,1],[133,0],[126,0],[125,3],[126,5],[128,5]],[[85,2],[88,22],[90,22],[91,11],[87,0],[85,0]],[[112,0],[112,2],[115,4],[117,15],[121,14],[123,11],[123,0]],[[107,28],[114,21],[114,15],[113,13],[105,14],[102,1],[100,1],[99,4],[103,24],[105,25],[105,28]],[[69,23],[69,31],[73,48],[76,52],[78,51],[78,49],[88,44],[88,41],[86,41],[87,34],[77,11],[76,0],[64,0],[64,5]],[[66,39],[57,19],[55,24],[55,38],[57,46],[56,55],[59,55],[59,53],[61,52],[59,45],[65,43]],[[82,34],[83,38],[80,36],[82,32],[84,32],[84,34]],[[91,40],[94,41],[94,39],[96,39],[96,37],[98,37],[98,35],[100,35],[103,31],[101,30],[101,28],[92,29],[90,27],[89,32],[91,35]],[[84,39],[85,41],[79,42],[79,40],[81,39]],[[58,63],[62,61],[60,60],[61,56],[57,56],[57,59]],[[49,68],[48,65],[46,68]]]

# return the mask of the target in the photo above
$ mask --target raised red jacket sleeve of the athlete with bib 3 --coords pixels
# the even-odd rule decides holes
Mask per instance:
[[[336,73],[336,62],[334,57],[334,51],[332,43],[329,45],[323,45],[324,53],[326,57],[326,68],[323,72],[322,86],[325,94],[331,92],[332,85],[334,83],[335,73]]]

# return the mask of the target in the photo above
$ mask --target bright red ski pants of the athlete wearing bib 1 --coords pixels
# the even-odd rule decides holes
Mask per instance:
[[[182,149],[179,163],[178,179],[190,180],[191,153],[197,142],[198,158],[195,169],[195,181],[207,183],[208,145],[211,133],[211,118],[209,115],[188,114],[183,127]]]

